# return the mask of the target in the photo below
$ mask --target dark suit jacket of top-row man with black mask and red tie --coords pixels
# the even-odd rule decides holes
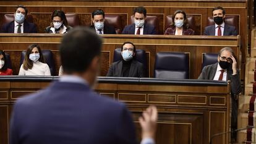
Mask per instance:
[[[215,36],[215,25],[210,25],[205,27],[205,32],[203,32],[203,35],[213,35]],[[223,36],[229,36],[229,35],[237,35],[236,27],[233,27],[231,25],[224,24],[224,32]]]

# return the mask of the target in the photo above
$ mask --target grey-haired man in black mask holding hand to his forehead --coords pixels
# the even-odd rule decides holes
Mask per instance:
[[[218,55],[218,62],[203,67],[198,79],[202,80],[223,80],[231,82],[232,115],[231,129],[237,129],[238,94],[241,92],[241,83],[234,51],[231,48],[223,48]],[[236,141],[236,133],[231,134]]]

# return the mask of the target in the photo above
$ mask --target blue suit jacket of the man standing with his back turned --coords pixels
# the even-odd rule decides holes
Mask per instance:
[[[99,96],[87,85],[54,82],[14,105],[10,144],[135,144],[124,103]]]

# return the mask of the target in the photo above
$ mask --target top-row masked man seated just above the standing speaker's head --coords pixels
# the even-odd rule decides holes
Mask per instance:
[[[93,28],[97,34],[116,34],[116,30],[112,25],[105,22],[105,12],[101,9],[97,9],[92,12]]]

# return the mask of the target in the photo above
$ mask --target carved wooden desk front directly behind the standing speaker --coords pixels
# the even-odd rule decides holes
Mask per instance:
[[[12,105],[20,96],[45,88],[58,77],[1,77],[0,143],[7,144]],[[95,90],[127,104],[140,139],[138,117],[150,104],[159,111],[156,143],[209,143],[229,129],[229,85],[208,80],[99,77]],[[228,135],[213,139],[228,143]]]

